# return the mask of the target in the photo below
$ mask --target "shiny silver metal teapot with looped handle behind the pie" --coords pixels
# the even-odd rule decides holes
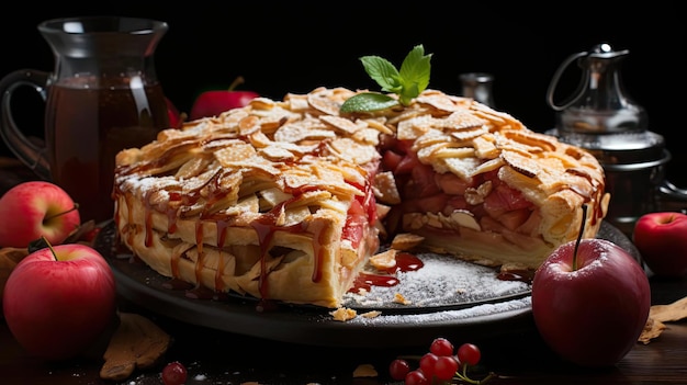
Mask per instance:
[[[660,210],[660,200],[687,201],[687,190],[665,179],[671,152],[663,136],[649,131],[644,109],[624,90],[620,63],[628,54],[604,43],[568,56],[547,91],[547,102],[555,111],[555,128],[547,133],[599,160],[611,194],[606,219],[630,234],[641,215]],[[582,70],[581,81],[576,92],[558,104],[555,89],[573,63]]]

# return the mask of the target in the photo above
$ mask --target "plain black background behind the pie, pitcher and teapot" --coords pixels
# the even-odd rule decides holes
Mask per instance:
[[[359,57],[380,55],[399,65],[417,44],[432,54],[430,88],[460,94],[459,73],[495,76],[496,107],[530,128],[554,125],[545,93],[566,57],[599,43],[629,49],[621,75],[628,95],[644,106],[650,129],[673,154],[668,178],[687,186],[685,12],[677,1],[630,2],[413,1],[100,1],[14,3],[0,14],[0,73],[20,68],[50,70],[52,53],[36,30],[46,19],[119,14],[164,20],[169,32],[156,50],[158,78],[179,110],[199,92],[228,88],[237,76],[260,94],[316,87],[379,87]],[[547,5],[550,4],[550,5]],[[561,98],[581,79],[573,67]],[[35,115],[34,115],[35,116]],[[41,123],[34,123],[41,131]],[[9,154],[0,144],[0,152]]]

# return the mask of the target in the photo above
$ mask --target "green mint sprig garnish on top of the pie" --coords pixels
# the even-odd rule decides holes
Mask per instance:
[[[344,102],[340,111],[374,112],[410,104],[429,86],[430,59],[431,54],[425,55],[421,44],[415,46],[403,59],[401,70],[383,57],[361,57],[365,72],[382,87],[382,91],[394,93],[397,99],[380,92],[362,92]]]

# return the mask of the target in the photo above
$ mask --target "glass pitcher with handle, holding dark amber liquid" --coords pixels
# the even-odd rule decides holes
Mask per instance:
[[[165,22],[135,18],[48,20],[38,31],[54,53],[53,71],[20,69],[0,81],[2,139],[38,178],[70,194],[82,222],[113,217],[116,154],[169,126],[154,64],[167,30]],[[44,146],[13,116],[13,92],[26,86],[45,101]]]

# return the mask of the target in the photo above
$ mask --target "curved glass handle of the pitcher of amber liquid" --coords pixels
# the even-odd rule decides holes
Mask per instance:
[[[29,138],[16,126],[12,115],[12,94],[19,87],[33,88],[43,101],[47,99],[46,88],[49,73],[35,69],[20,69],[5,75],[0,80],[0,136],[10,150],[24,165],[31,168],[36,175],[44,180],[50,180],[50,168],[46,157],[46,148],[40,147],[29,140]]]

